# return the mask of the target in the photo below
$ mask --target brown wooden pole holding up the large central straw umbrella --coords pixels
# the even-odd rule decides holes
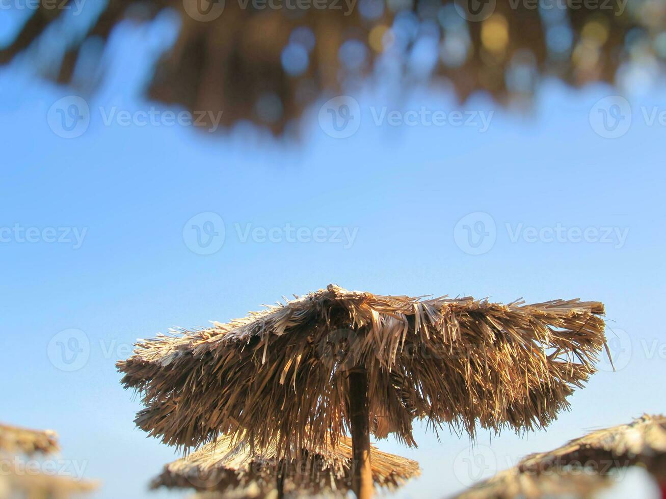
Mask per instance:
[[[354,369],[349,373],[349,412],[352,426],[352,488],[358,499],[370,499],[374,494],[370,467],[370,404],[368,403],[368,373]]]

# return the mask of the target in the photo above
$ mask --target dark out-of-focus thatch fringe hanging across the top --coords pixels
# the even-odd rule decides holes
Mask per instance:
[[[501,102],[531,94],[537,75],[575,85],[612,82],[623,63],[666,57],[660,0],[456,2],[108,0],[81,36],[69,35],[71,11],[39,2],[0,49],[0,63],[29,47],[44,55],[48,47],[37,49],[36,41],[53,30],[67,35],[65,50],[49,53],[47,63],[35,55],[38,69],[61,82],[95,83],[105,68],[77,67],[79,55],[86,51],[87,63],[101,60],[97,42],[121,21],[153,19],[170,8],[180,31],[157,63],[150,96],[190,110],[222,110],[222,124],[252,120],[282,132],[320,94],[348,92],[348,83],[372,73],[384,55],[407,82],[446,79],[460,98],[487,90]],[[57,3],[73,8],[74,1]],[[83,9],[99,7],[87,4]],[[57,37],[49,39],[54,43]]]

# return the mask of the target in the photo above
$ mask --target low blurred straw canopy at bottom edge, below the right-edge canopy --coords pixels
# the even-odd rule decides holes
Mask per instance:
[[[597,474],[557,471],[537,476],[510,468],[476,484],[455,499],[585,499],[609,485],[609,480]]]

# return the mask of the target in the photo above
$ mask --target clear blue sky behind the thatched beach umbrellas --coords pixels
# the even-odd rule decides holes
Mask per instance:
[[[617,330],[608,332],[617,371],[602,363],[547,431],[481,433],[472,451],[490,463],[486,473],[585,430],[664,411],[665,128],[643,112],[666,109],[663,90],[623,94],[631,126],[604,138],[590,116],[618,93],[607,86],[574,91],[547,81],[525,113],[483,95],[457,104],[418,87],[400,97],[361,89],[353,94],[356,133],[327,135],[322,99],[306,114],[300,142],[290,143],[248,126],[218,134],[136,121],[107,126],[103,116],[114,106],[133,114],[157,105],[136,96],[141,74],[130,73],[86,96],[89,126],[70,139],[49,126],[49,109],[71,90],[17,68],[0,73],[2,418],[56,429],[62,458],[103,480],[96,497],[167,495],[146,485],[174,451],[134,428],[139,403],[115,372],[135,339],[226,321],[328,283],[382,294],[605,303]],[[453,110],[492,118],[485,131],[374,121],[384,107],[422,106],[447,118]],[[218,251],[200,254],[207,250],[192,224],[202,237],[211,227],[218,233]],[[296,241],[287,224],[301,230]],[[38,234],[36,242],[15,227]],[[49,242],[51,228],[62,242]],[[272,242],[262,230],[273,230]],[[486,239],[475,240],[479,234]],[[72,337],[78,345],[67,343]],[[75,365],[59,360],[59,341],[83,349]],[[424,470],[396,497],[438,498],[470,480],[466,436],[442,432],[438,442],[418,430],[416,440],[418,449],[378,442]]]

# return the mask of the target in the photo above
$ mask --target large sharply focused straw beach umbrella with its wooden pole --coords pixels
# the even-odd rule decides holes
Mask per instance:
[[[370,432],[415,444],[412,420],[521,430],[548,424],[595,371],[598,302],[422,300],[329,285],[244,319],[140,341],[118,363],[147,408],[137,424],[193,446],[246,432],[260,448],[338,444],[372,494]]]

